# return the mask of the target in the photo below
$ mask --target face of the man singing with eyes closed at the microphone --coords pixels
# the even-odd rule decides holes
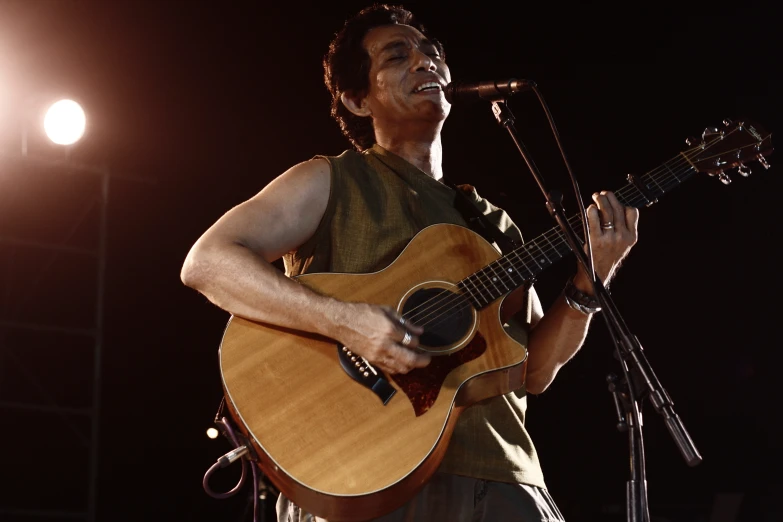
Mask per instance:
[[[408,121],[443,122],[451,105],[443,87],[451,81],[437,47],[409,25],[372,29],[364,38],[370,55],[370,90],[364,99],[376,127]]]

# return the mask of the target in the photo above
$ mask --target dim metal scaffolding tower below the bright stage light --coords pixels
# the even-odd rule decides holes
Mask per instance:
[[[0,450],[0,457],[3,458],[4,462],[12,462],[12,465],[9,465],[2,472],[6,497],[0,497],[0,519],[77,519],[94,522],[96,520],[99,471],[98,449],[102,388],[101,370],[104,350],[107,220],[109,187],[112,175],[108,167],[76,164],[67,158],[63,160],[35,158],[28,156],[24,149],[22,154],[0,153],[0,188],[2,188],[3,182],[9,184],[7,185],[8,187],[13,187],[10,183],[13,183],[14,178],[20,176],[21,172],[25,172],[28,175],[47,172],[49,175],[57,173],[61,177],[67,177],[68,175],[93,177],[95,183],[90,182],[91,185],[89,187],[95,193],[88,196],[89,201],[86,201],[83,205],[81,214],[54,216],[51,214],[52,208],[41,208],[37,211],[39,214],[49,212],[50,214],[47,218],[50,220],[61,219],[65,221],[71,219],[76,221],[70,225],[72,231],[80,227],[83,228],[85,222],[92,220],[89,223],[93,225],[90,227],[91,232],[97,234],[97,238],[93,238],[92,245],[83,247],[67,244],[69,241],[68,237],[60,238],[59,240],[40,240],[25,237],[27,230],[24,226],[20,226],[19,230],[14,229],[16,223],[12,221],[16,220],[18,216],[13,214],[13,210],[10,211],[10,218],[7,218],[3,215],[3,209],[0,208],[0,219],[6,218],[5,223],[0,222],[0,253],[3,254],[3,257],[6,257],[5,261],[0,258],[0,285],[6,287],[5,290],[0,288],[0,296],[5,294],[5,300],[9,305],[11,301],[18,299],[14,292],[22,294],[27,301],[32,301],[36,298],[36,289],[28,291],[29,281],[23,281],[23,277],[17,277],[12,274],[13,268],[18,268],[19,271],[31,271],[24,263],[19,267],[12,266],[10,259],[19,252],[24,252],[28,256],[23,261],[37,259],[36,256],[48,256],[48,260],[42,263],[42,267],[36,265],[38,282],[44,280],[45,274],[43,272],[51,271],[53,267],[58,266],[55,264],[56,262],[63,262],[66,258],[71,258],[71,265],[69,266],[87,267],[89,269],[88,272],[92,272],[92,275],[89,277],[94,282],[94,288],[87,289],[87,285],[83,285],[82,288],[85,290],[85,299],[92,300],[94,310],[90,311],[89,306],[82,307],[87,309],[86,316],[92,316],[92,324],[69,325],[62,324],[61,321],[29,319],[23,317],[24,314],[14,314],[9,311],[11,306],[0,307],[0,411],[3,412],[2,417],[8,423],[4,429],[6,431],[11,429],[16,432],[20,438],[20,441],[17,442],[22,442],[22,439],[24,439],[23,442],[29,444],[16,447],[12,443],[4,443],[2,445],[4,449]],[[138,178],[129,179],[138,180]],[[44,187],[38,186],[33,188],[35,190],[43,190]],[[3,196],[3,194],[0,194],[0,196]],[[8,196],[9,201],[11,197],[10,195]],[[2,205],[2,199],[0,199],[0,205]],[[22,205],[19,205],[19,208],[22,208]],[[33,212],[36,211],[31,210],[31,215]],[[8,233],[9,230],[14,233]],[[30,255],[31,252],[32,255]],[[75,264],[73,264],[73,260],[76,260]],[[6,272],[7,277],[5,284],[3,284],[3,271]],[[68,279],[67,276],[60,277],[62,280]],[[20,287],[24,288],[24,290],[18,290]],[[72,297],[71,295],[58,295],[52,299],[39,299],[33,305],[48,306],[48,309],[53,310],[51,313],[52,317],[69,317],[74,312],[73,310],[68,310],[68,307],[75,308],[79,306],[78,300],[75,303],[70,300]],[[6,317],[6,314],[10,316]],[[32,335],[32,337],[25,337],[28,334]],[[41,337],[36,338],[35,335],[40,335]],[[73,364],[71,367],[68,367],[67,362],[61,361],[58,363],[56,360],[45,361],[47,365],[53,366],[55,369],[54,372],[49,372],[49,378],[42,378],[41,375],[37,374],[36,370],[40,370],[42,366],[37,364],[37,362],[44,362],[45,354],[50,353],[47,351],[49,348],[58,349],[55,352],[55,358],[62,356],[65,359],[67,357],[65,351],[76,342],[73,339],[77,338],[78,343],[83,343],[77,343],[77,346],[89,346],[92,352],[91,354],[82,354],[80,352],[80,356],[85,357],[83,361],[85,363],[84,366],[88,365],[87,361],[91,360],[92,362],[91,371],[88,368],[82,374],[82,377],[89,374],[89,382],[84,382],[86,379],[83,378],[80,382],[66,382],[63,384],[64,381],[58,379],[66,380],[68,377],[72,377],[73,380],[79,381],[79,373],[74,371],[76,369],[74,366],[81,365]],[[41,350],[44,345],[48,345],[45,346],[47,350]],[[40,355],[33,353],[35,350],[41,350]],[[75,355],[72,355],[72,357],[76,358]],[[31,361],[33,361],[32,364]],[[59,372],[57,371],[58,366]],[[52,373],[54,373],[55,378],[52,378]],[[19,384],[21,382],[24,382],[24,386]],[[54,390],[52,386],[54,386]],[[29,393],[25,397],[20,398],[19,394],[23,393],[19,391],[20,389],[28,390]],[[69,397],[72,393],[84,400],[89,397],[89,404],[63,404],[61,399],[65,400],[64,397]],[[11,395],[11,397],[8,398],[8,395]],[[35,396],[35,400],[30,400],[29,396]],[[65,402],[68,401],[65,400]],[[45,417],[45,419],[41,420],[42,417]],[[52,420],[57,422],[51,422]],[[56,434],[49,434],[49,429],[55,431],[55,425],[59,426],[59,428],[65,428],[67,432],[70,432],[70,435],[58,437]],[[0,427],[2,426],[0,425]],[[42,438],[45,442],[43,444],[36,443],[36,437]],[[3,439],[6,440],[5,435]],[[9,454],[3,455],[3,452],[6,451]],[[71,453],[70,456],[68,455],[69,452]],[[57,453],[64,453],[64,457],[71,460],[66,461],[64,465],[60,464],[56,459]],[[87,458],[81,458],[80,455],[83,456],[85,453]],[[81,465],[84,465],[86,469],[78,469]],[[59,469],[61,467],[66,469]],[[56,473],[59,472],[62,473],[62,477],[58,478]],[[63,482],[63,480],[68,480],[69,478],[74,483]],[[79,482],[84,478],[86,478],[86,484],[75,484],[75,482]],[[8,489],[9,484],[11,485],[10,492]],[[57,495],[50,495],[50,493],[57,489],[66,489],[69,492],[66,493],[68,499],[65,501],[65,506],[58,507],[54,505],[58,500]],[[78,497],[82,493],[84,497],[79,499]]]

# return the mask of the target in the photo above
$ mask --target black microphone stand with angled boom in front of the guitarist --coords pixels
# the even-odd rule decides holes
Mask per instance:
[[[543,104],[543,99],[538,93],[535,84],[530,82],[530,87],[536,92],[539,100]],[[592,268],[592,255],[588,258],[583,250],[582,243],[565,217],[562,208],[562,194],[559,192],[550,192],[544,186],[540,173],[530,159],[525,145],[517,135],[516,129],[514,128],[515,118],[511,109],[508,107],[506,98],[503,95],[498,95],[495,98],[486,99],[489,99],[489,101],[492,102],[492,113],[494,114],[495,119],[502,127],[508,130],[511,139],[514,141],[517,149],[519,149],[522,158],[533,173],[533,177],[535,178],[536,183],[538,183],[541,193],[546,200],[546,208],[563,231],[563,235],[565,236],[571,251],[576,256],[580,265],[585,269],[586,273],[591,275],[594,294],[601,304],[603,317],[607,323],[612,341],[615,344],[616,356],[620,361],[624,375],[619,383],[617,377],[614,375],[610,375],[607,380],[617,409],[617,428],[621,431],[628,431],[630,473],[626,486],[627,520],[629,522],[649,522],[650,513],[647,502],[647,479],[645,472],[641,414],[641,400],[644,396],[650,398],[650,402],[654,406],[655,411],[663,417],[669,434],[674,439],[675,444],[687,464],[689,466],[699,464],[702,460],[701,455],[699,455],[698,450],[679,416],[674,412],[673,402],[645,357],[644,350],[642,349],[639,340],[630,331],[628,325],[626,325],[620,312],[612,301],[609,292],[604,287],[600,278],[595,274],[595,271]],[[546,110],[545,104],[544,108]],[[550,118],[551,124],[552,120],[548,110],[547,116]],[[552,130],[555,131],[554,125],[552,125]],[[555,137],[557,138],[556,131]],[[565,156],[563,157],[565,159]],[[575,180],[574,184],[576,186]],[[582,222],[587,222],[584,211],[582,211]],[[589,245],[587,230],[585,230],[585,236],[585,240]]]

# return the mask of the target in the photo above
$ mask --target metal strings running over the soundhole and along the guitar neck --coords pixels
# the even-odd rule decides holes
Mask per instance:
[[[728,135],[730,135],[735,131],[736,129],[730,131]],[[727,137],[728,135],[724,137]],[[693,166],[690,163],[690,159],[696,157],[699,154],[703,154],[712,145],[718,143],[722,139],[723,138],[716,138],[708,145],[707,144],[705,144],[704,146],[698,145],[696,147],[693,147],[692,149],[688,149],[678,154],[672,160],[669,160],[663,165],[657,167],[656,169],[653,169],[652,171],[644,174],[642,178],[650,178],[649,181],[652,181],[653,184],[658,187],[661,194],[663,194],[667,190],[670,190],[664,188],[667,185],[671,183],[675,183],[676,185],[679,185],[689,177],[689,176],[685,176],[683,177],[683,179],[680,179],[677,175],[678,173],[675,173],[673,169],[680,169],[683,166],[685,166],[684,170],[679,172],[679,174],[680,175],[686,174],[689,170],[693,169]],[[663,173],[663,175],[660,175],[661,173]],[[656,179],[656,177],[658,177],[659,179]],[[628,194],[625,194],[626,192]],[[618,199],[620,199],[620,201],[625,202],[626,204],[630,204],[630,206],[639,207],[639,206],[644,206],[647,203],[651,203],[651,201],[645,196],[645,194],[643,194],[642,191],[633,183],[627,185],[626,187],[621,188],[620,190],[615,192],[615,194],[618,196]],[[568,222],[571,226],[578,225],[581,223],[581,218],[579,215],[575,215],[569,218]],[[554,242],[553,239],[555,240]],[[546,242],[547,244],[546,250],[542,247],[541,245],[542,242]],[[458,283],[458,286],[461,286],[464,290],[468,292],[468,294],[473,299],[473,302],[475,304],[479,306],[486,306],[489,303],[493,302],[498,297],[507,294],[508,292],[510,292],[515,288],[518,288],[526,281],[528,281],[532,276],[535,275],[535,272],[530,269],[528,263],[532,262],[531,264],[537,265],[539,268],[539,272],[545,268],[545,266],[542,266],[542,263],[539,263],[536,260],[536,258],[533,256],[531,252],[533,247],[538,248],[539,252],[544,256],[544,258],[542,259],[542,261],[544,261],[544,265],[548,265],[554,263],[554,261],[550,259],[550,255],[553,255],[553,252],[554,255],[557,256],[556,260],[561,259],[565,253],[570,252],[570,248],[566,248],[563,250],[563,253],[561,253],[560,247],[562,246],[566,246],[566,247],[568,246],[568,242],[565,240],[562,231],[560,231],[557,228],[550,229],[549,231],[545,232],[538,238],[525,244],[523,247],[514,250],[513,252],[509,253],[509,255],[507,256],[503,256],[499,258],[498,260],[478,270],[473,275],[465,278],[463,281]],[[547,255],[547,253],[549,253],[549,255]],[[520,254],[524,254],[524,256]],[[521,281],[517,282],[514,280],[513,274],[514,272],[517,272],[518,274],[519,269],[514,264],[514,261],[511,259],[512,257],[515,257],[517,261],[519,261],[522,264],[522,266],[527,270],[530,276],[526,278],[524,275],[520,275],[519,277],[521,277]],[[501,264],[503,262],[509,263],[510,268],[502,267]],[[500,270],[497,270],[496,267],[499,268]],[[488,275],[487,272],[491,272],[492,275]],[[474,291],[472,291],[467,286],[467,284],[463,284],[463,283],[470,283],[473,286],[475,292],[480,297],[483,298],[484,301],[483,305],[474,295]],[[498,283],[502,285],[503,288],[500,288],[498,286]],[[509,286],[507,283],[510,283],[511,286]],[[490,297],[487,297],[484,293],[482,293],[481,288],[479,288],[479,284],[484,288],[485,291],[490,290],[490,284],[491,284],[491,286],[495,288],[497,294],[493,295],[492,293],[490,293]],[[404,314],[404,317],[406,317],[406,319],[410,319],[414,324],[417,324],[419,326],[432,327],[451,317],[452,314],[450,312],[453,312],[455,308],[457,308],[458,309],[457,311],[459,312],[461,310],[464,310],[466,306],[470,306],[471,304],[472,303],[470,302],[470,300],[467,298],[465,294],[454,293],[448,290],[443,290],[442,292],[439,292],[438,294],[431,297],[430,299],[424,301],[420,305],[407,311]],[[422,309],[422,307],[425,308]],[[444,307],[446,308],[444,309]]]

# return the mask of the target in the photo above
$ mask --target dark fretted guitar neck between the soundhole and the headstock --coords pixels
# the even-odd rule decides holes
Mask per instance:
[[[629,176],[631,181],[615,191],[615,196],[623,205],[635,208],[656,203],[659,197],[674,190],[697,172],[688,159],[689,152],[678,154],[636,179]],[[568,219],[569,226],[584,241],[581,223],[579,214]],[[560,227],[554,227],[466,277],[458,286],[473,306],[481,309],[533,281],[546,268],[571,253],[565,234]]]

